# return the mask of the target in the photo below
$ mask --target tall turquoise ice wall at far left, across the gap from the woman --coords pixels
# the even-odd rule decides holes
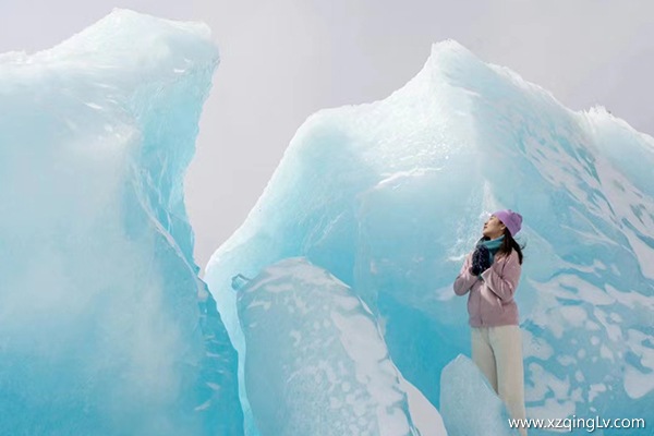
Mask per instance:
[[[242,433],[183,204],[217,63],[125,10],[0,56],[0,434]]]

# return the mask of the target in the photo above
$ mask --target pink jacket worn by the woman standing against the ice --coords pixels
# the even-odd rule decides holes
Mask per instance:
[[[461,272],[455,280],[455,293],[468,296],[469,324],[472,327],[518,325],[518,305],[513,294],[520,281],[522,267],[518,252],[497,255],[491,268],[482,272],[482,279],[470,274],[472,252],[465,257]]]

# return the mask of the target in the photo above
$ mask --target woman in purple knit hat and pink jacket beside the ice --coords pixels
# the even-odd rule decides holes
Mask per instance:
[[[470,291],[472,360],[513,419],[525,419],[522,339],[513,300],[522,269],[522,247],[513,237],[521,226],[522,216],[510,209],[491,215],[455,281],[457,295]],[[524,428],[520,432],[526,435]]]

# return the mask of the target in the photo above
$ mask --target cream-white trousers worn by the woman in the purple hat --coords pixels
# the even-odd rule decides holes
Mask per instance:
[[[516,325],[472,327],[472,360],[484,373],[511,417],[524,420],[522,337]],[[520,428],[526,435],[525,428]]]

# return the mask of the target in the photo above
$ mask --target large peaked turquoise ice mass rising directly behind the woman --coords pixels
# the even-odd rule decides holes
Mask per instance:
[[[487,214],[512,208],[528,416],[654,422],[652,168],[652,137],[446,41],[386,99],[310,117],[205,279],[242,363],[232,276],[305,256],[365,301],[438,407],[440,371],[470,353],[452,281]]]

